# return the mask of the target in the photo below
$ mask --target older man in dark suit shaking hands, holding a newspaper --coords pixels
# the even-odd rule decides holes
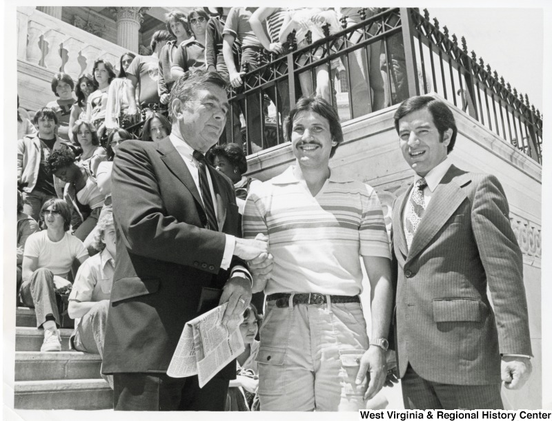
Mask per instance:
[[[197,376],[166,375],[184,324],[217,304],[205,305],[206,292],[218,289],[219,302],[228,302],[223,322],[247,308],[244,260],[267,247],[237,238],[233,187],[204,158],[224,130],[225,88],[217,73],[180,78],[169,101],[170,136],[127,141],[117,151],[117,263],[103,350],[116,410],[222,411],[235,378],[235,362],[202,389]]]

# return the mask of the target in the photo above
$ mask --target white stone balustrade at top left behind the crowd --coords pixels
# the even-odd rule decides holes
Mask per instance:
[[[17,8],[17,59],[77,80],[99,57],[118,65],[125,48],[31,7]]]

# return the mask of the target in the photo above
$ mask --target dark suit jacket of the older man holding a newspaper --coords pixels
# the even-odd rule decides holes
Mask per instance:
[[[222,232],[204,229],[193,178],[165,138],[126,141],[112,172],[117,257],[103,350],[103,372],[165,372],[202,287],[221,288],[225,236],[237,236],[232,183],[210,167]],[[232,265],[240,262],[234,258]],[[235,378],[235,363],[219,373]]]

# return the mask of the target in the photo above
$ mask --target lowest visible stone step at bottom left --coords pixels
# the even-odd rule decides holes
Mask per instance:
[[[113,391],[103,379],[14,383],[15,409],[110,409]]]

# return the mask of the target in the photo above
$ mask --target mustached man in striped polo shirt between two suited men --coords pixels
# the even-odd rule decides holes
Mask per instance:
[[[261,409],[356,411],[386,378],[393,288],[384,216],[372,187],[328,166],[343,141],[330,104],[300,99],[286,129],[295,165],[253,189],[243,219],[244,238],[269,238],[268,258],[250,262],[253,289],[267,295]],[[361,257],[371,284],[370,341]]]

